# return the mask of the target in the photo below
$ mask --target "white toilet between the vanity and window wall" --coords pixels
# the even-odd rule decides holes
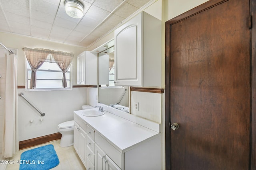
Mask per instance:
[[[94,108],[90,105],[83,105],[82,109]],[[69,147],[74,144],[74,120],[65,121],[58,125],[58,131],[62,134],[60,147]]]

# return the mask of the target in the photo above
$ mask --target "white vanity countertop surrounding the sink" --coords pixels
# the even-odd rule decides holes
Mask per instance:
[[[91,126],[104,139],[111,143],[119,152],[123,153],[138,145],[160,135],[160,133],[138,125],[132,121],[105,111],[104,115],[86,117],[84,110],[74,111],[86,124]],[[128,114],[128,113],[127,113]]]

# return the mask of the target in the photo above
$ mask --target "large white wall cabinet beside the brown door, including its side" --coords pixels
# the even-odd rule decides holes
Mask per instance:
[[[142,12],[114,31],[115,84],[161,86],[161,21]]]

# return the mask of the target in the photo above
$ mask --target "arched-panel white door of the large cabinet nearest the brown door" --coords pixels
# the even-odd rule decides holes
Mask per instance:
[[[137,15],[115,30],[115,84],[141,86],[142,21]]]

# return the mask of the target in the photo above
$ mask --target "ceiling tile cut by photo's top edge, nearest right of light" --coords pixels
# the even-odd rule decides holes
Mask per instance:
[[[123,0],[95,0],[93,5],[98,6],[108,12],[112,12]]]

